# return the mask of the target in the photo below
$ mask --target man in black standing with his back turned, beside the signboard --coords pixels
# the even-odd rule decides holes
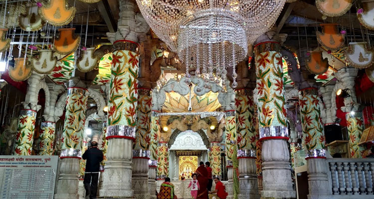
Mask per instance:
[[[84,152],[82,156],[86,160],[86,171],[84,174],[84,188],[86,198],[95,199],[97,194],[97,183],[99,181],[100,162],[103,161],[103,152],[97,148],[97,142],[91,142],[91,148]]]

